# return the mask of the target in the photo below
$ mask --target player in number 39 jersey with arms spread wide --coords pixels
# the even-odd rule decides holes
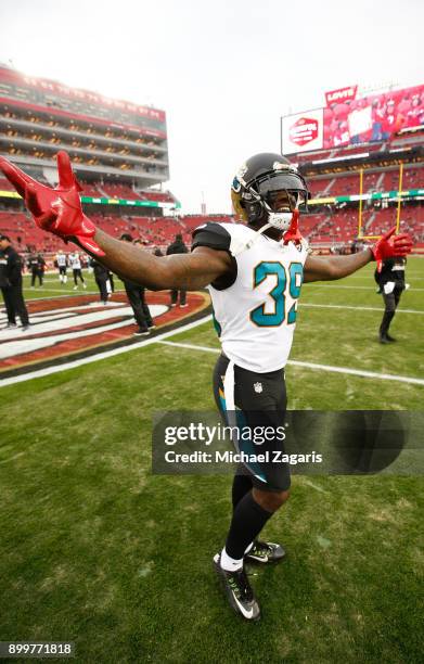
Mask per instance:
[[[309,196],[306,181],[286,158],[265,153],[247,159],[232,182],[241,222],[201,226],[193,233],[192,253],[157,257],[95,228],[82,213],[80,187],[65,152],[57,154],[57,166],[59,186],[51,190],[0,157],[0,168],[40,228],[76,242],[115,273],[151,290],[208,288],[222,345],[216,400],[227,421],[235,413],[250,426],[269,425],[277,432],[284,423],[284,366],[301,283],[342,279],[371,260],[381,266],[385,258],[404,256],[412,246],[408,235],[394,237],[391,229],[362,253],[310,256],[299,231]],[[267,442],[275,451],[282,445],[277,435]],[[288,469],[277,465],[253,463],[239,470],[227,540],[214,558],[231,605],[248,621],[258,620],[260,609],[244,561],[268,563],[284,557],[280,545],[258,539],[290,495]]]

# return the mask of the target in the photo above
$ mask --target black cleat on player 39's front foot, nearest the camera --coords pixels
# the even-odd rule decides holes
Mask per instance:
[[[260,618],[259,604],[245,571],[242,569],[237,572],[227,572],[227,570],[222,570],[220,560],[219,553],[214,556],[214,567],[221,579],[231,606],[235,613],[239,613],[246,621],[258,621]]]

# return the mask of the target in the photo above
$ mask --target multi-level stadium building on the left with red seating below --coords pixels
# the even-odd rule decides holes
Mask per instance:
[[[169,179],[165,112],[0,65],[0,153],[33,177],[55,184],[59,150],[70,155],[86,212],[100,226],[141,239],[146,227],[147,243],[163,240],[147,222],[179,207],[164,189]],[[0,207],[0,229],[24,252],[54,252],[62,245],[35,227],[2,177]]]

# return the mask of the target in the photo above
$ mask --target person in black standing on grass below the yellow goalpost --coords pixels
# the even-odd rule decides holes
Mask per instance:
[[[375,270],[374,272],[374,279],[378,284],[378,293],[383,295],[384,299],[383,320],[378,330],[381,344],[388,344],[396,341],[396,339],[388,333],[388,329],[399,304],[400,295],[406,290],[406,258],[388,258],[383,261],[382,271],[378,272]]]

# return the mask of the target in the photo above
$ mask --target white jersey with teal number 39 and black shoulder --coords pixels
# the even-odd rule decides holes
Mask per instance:
[[[235,261],[229,283],[218,280],[208,286],[223,353],[239,367],[258,373],[284,367],[296,325],[307,243],[283,245],[241,224],[206,224],[193,233],[196,246],[227,250]]]

